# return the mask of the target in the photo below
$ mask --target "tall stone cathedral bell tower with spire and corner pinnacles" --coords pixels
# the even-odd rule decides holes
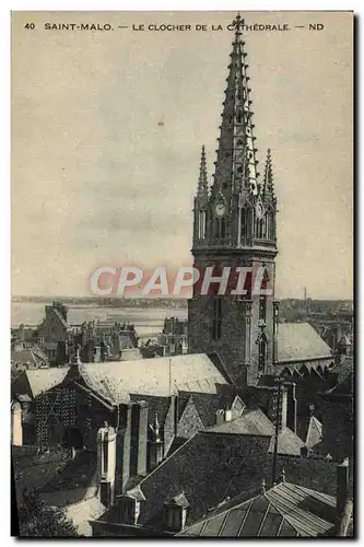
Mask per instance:
[[[188,338],[189,352],[216,351],[231,377],[243,386],[256,385],[261,375],[273,374],[277,199],[270,150],[263,176],[257,172],[251,90],[242,39],[244,20],[237,15],[233,24],[235,37],[211,188],[202,147],[192,255],[201,278],[209,269],[215,281],[231,268],[227,288],[236,287],[236,268],[246,268],[246,292],[233,294],[215,281],[204,293],[201,282],[197,283],[188,307]],[[259,288],[258,271],[260,276],[263,272]]]

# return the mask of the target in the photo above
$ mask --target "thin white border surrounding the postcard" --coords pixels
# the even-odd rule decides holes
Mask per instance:
[[[1,167],[2,167],[2,179],[1,179],[1,200],[0,200],[0,207],[1,207],[1,213],[0,213],[0,222],[1,222],[1,249],[3,251],[4,258],[2,259],[2,268],[1,268],[1,305],[0,305],[0,351],[1,351],[1,360],[0,360],[0,373],[1,373],[1,385],[3,386],[3,394],[4,396],[1,397],[1,403],[3,408],[1,408],[0,417],[1,421],[3,422],[1,424],[1,439],[3,442],[2,446],[2,464],[3,464],[3,469],[7,469],[9,473],[10,466],[9,466],[9,439],[10,439],[10,412],[9,412],[9,404],[10,404],[10,398],[5,396],[5,394],[9,394],[9,375],[10,375],[10,368],[9,368],[9,362],[10,362],[10,85],[8,82],[10,82],[10,16],[9,16],[9,11],[354,11],[357,16],[360,16],[361,12],[363,11],[363,2],[362,0],[355,0],[352,1],[350,4],[349,2],[339,2],[339,1],[333,1],[331,0],[330,2],[318,2],[317,0],[306,0],[305,2],[297,2],[294,4],[294,10],[292,9],[292,2],[289,1],[262,1],[262,0],[246,0],[242,2],[237,1],[230,1],[225,0],[224,2],[221,1],[213,1],[210,0],[207,4],[207,2],[201,2],[198,0],[190,1],[190,0],[185,0],[185,1],[155,1],[151,5],[150,2],[145,2],[145,0],[133,0],[133,1],[124,1],[124,2],[118,2],[118,1],[95,1],[95,0],[87,0],[87,1],[70,1],[70,0],[62,0],[62,1],[56,1],[56,2],[45,2],[44,0],[38,0],[34,1],[30,4],[30,2],[26,1],[12,1],[9,4],[5,3],[5,5],[1,7],[1,31],[0,31],[0,58],[1,58],[1,67],[2,67],[2,84],[1,84],[1,136],[2,136],[2,142],[1,142],[1,154],[2,154],[2,161],[1,161]],[[361,22],[360,22],[361,23]],[[356,26],[356,33],[359,34],[359,24]],[[362,59],[363,59],[363,40],[360,39],[360,36],[356,37],[357,39],[357,50],[356,50],[356,56],[360,59],[356,66],[356,70],[359,69],[359,65],[362,67]],[[315,59],[313,59],[313,62],[315,62]],[[356,74],[357,79],[357,102],[360,97],[359,90],[362,90],[361,82],[360,82],[360,71]],[[356,113],[360,114],[360,108],[359,104],[356,106]],[[362,127],[362,115],[360,119],[356,119],[355,123],[357,126]],[[362,235],[363,235],[363,225],[364,225],[364,211],[363,214],[361,214],[362,211],[362,193],[359,191],[359,186],[360,186],[360,181],[361,181],[361,165],[359,164],[359,158],[363,156],[363,142],[360,139],[359,130],[356,132],[356,139],[357,139],[357,172],[356,172],[356,201],[359,200],[359,205],[356,203],[356,214],[357,214],[357,226],[359,226],[359,233],[356,233],[356,251],[359,252],[360,249],[360,243],[362,242]],[[26,207],[26,203],[24,203],[24,207]],[[332,260],[334,261],[334,257],[332,257]],[[363,272],[364,264],[363,264],[363,254],[357,256],[357,267],[360,268],[360,271]],[[329,272],[328,272],[329,274]],[[357,274],[356,278],[356,284],[360,283],[361,276]],[[359,288],[356,287],[356,299],[359,299],[357,302],[357,316],[356,316],[356,322],[360,321],[359,317],[359,310],[362,307],[363,302],[362,302],[362,295],[359,294]],[[359,338],[359,335],[361,333],[361,324],[356,325],[356,335]],[[359,340],[356,340],[359,342]],[[360,393],[361,393],[361,387],[363,386],[364,383],[364,374],[363,372],[359,374],[359,371],[364,371],[364,363],[362,359],[362,354],[360,356],[360,359],[357,359],[356,363],[356,370],[357,370],[357,384],[356,384],[356,393],[359,394],[357,399],[360,400]],[[357,449],[360,454],[363,453],[362,451],[362,439],[363,439],[363,428],[362,424],[364,420],[362,419],[362,407],[360,408],[359,416],[356,416],[356,420],[360,423],[360,427],[357,428]],[[359,454],[356,457],[356,465],[359,466]],[[7,476],[7,472],[4,475],[2,475],[2,488],[0,489],[0,497],[3,501],[1,503],[2,508],[2,516],[4,516],[4,512],[7,513],[5,519],[3,519],[3,526],[1,526],[1,538],[4,542],[4,544],[8,545],[8,543],[12,543],[12,539],[10,538],[10,528],[9,525],[5,525],[7,523],[10,523],[10,503],[9,503],[9,486],[10,486],[10,474]],[[362,477],[363,473],[360,474],[360,487],[357,488],[359,481],[356,481],[356,488],[357,488],[357,501],[361,499],[361,496],[359,492],[363,492],[362,488]],[[8,480],[9,478],[9,480]],[[361,504],[362,505],[362,504]],[[362,507],[356,508],[356,527],[357,532],[360,533],[360,522],[361,522],[361,515],[362,515]],[[127,540],[124,539],[124,543]],[[134,539],[133,539],[134,543]],[[247,542],[245,542],[246,544]],[[248,542],[250,543],[250,542]],[[265,543],[265,542],[263,542]],[[204,545],[207,545],[204,543]]]

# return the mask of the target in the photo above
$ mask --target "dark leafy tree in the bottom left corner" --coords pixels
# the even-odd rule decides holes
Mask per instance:
[[[78,537],[79,533],[63,509],[46,505],[36,494],[23,492],[19,509],[21,537]]]

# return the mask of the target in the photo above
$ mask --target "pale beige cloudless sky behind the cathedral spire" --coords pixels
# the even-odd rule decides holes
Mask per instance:
[[[350,299],[352,15],[242,15],[246,24],[291,28],[244,37],[259,171],[267,148],[274,168],[275,295],[300,298],[306,287],[310,298]],[[201,146],[211,181],[234,16],[13,13],[13,295],[89,295],[101,266],[191,264]],[[25,28],[30,22],[34,30]],[[132,30],[164,23],[208,30]],[[324,30],[309,31],[309,23]]]

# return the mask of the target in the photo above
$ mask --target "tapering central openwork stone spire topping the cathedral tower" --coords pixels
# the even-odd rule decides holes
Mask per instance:
[[[235,37],[228,65],[227,86],[223,102],[222,125],[213,195],[222,191],[228,198],[234,187],[246,187],[254,195],[258,194],[258,173],[255,149],[254,125],[251,121],[251,101],[247,75],[247,54],[244,50],[245,42],[242,40],[244,20],[240,15],[233,22]],[[245,159],[248,160],[248,170],[245,170]]]

